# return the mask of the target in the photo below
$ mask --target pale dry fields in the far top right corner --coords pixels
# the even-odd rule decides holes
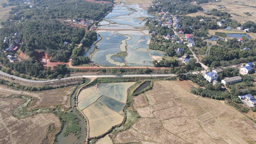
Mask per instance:
[[[250,6],[256,6],[256,1],[252,0],[221,0],[221,2],[217,3],[204,3],[200,4],[204,10],[212,10],[213,8],[218,9],[218,5],[225,6],[225,8],[218,9],[219,11],[225,11],[229,12],[232,16],[232,19],[235,19],[237,22],[244,23],[248,20],[256,22],[256,14],[252,14],[253,12],[256,12],[256,8],[250,7]],[[246,6],[249,5],[249,6]],[[252,16],[248,16],[244,14],[244,12],[249,12],[252,14]],[[240,16],[236,16],[232,13],[236,13]]]

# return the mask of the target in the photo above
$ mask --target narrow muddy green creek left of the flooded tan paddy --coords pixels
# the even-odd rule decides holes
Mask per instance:
[[[74,110],[74,97],[76,96],[76,92],[78,90],[79,85],[77,85],[75,92],[71,95],[71,110],[72,113],[76,114],[78,125],[81,127],[81,133],[79,139],[76,138],[72,133],[69,133],[68,136],[64,136],[64,131],[67,127],[67,125],[64,123],[63,129],[61,130],[61,133],[57,136],[56,143],[57,144],[83,144],[84,143],[84,137],[85,137],[85,130],[84,130],[84,120],[83,117],[79,116],[78,113]]]

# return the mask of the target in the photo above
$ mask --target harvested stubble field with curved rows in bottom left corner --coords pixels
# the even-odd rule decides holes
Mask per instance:
[[[24,99],[13,97],[0,98],[0,143],[41,143],[45,140],[48,128],[51,126],[60,130],[60,120],[52,113],[36,114],[24,119],[12,116],[12,112]],[[45,141],[53,142],[54,136]]]

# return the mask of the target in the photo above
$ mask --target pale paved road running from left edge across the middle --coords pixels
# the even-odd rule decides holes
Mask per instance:
[[[52,79],[52,80],[43,80],[43,81],[36,81],[36,80],[29,80],[29,79],[25,79],[25,78],[21,78],[18,76],[13,76],[7,73],[4,73],[2,71],[0,71],[0,75],[3,76],[8,76],[10,78],[14,78],[16,80],[20,80],[20,81],[24,81],[24,82],[31,82],[31,83],[50,83],[50,82],[55,82],[55,81],[59,81],[59,79]],[[72,78],[80,78],[80,77],[87,77],[87,78],[91,78],[91,77],[161,77],[161,76],[177,76],[175,74],[152,74],[152,75],[144,75],[144,74],[140,74],[140,75],[83,75],[83,76],[71,76],[71,77],[66,77],[66,78],[62,78],[61,80],[67,80],[67,79],[72,79]]]

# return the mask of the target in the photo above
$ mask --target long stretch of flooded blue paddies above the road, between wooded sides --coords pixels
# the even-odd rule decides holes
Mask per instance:
[[[102,40],[93,53],[92,61],[102,66],[153,66],[148,49],[150,35],[144,25],[147,11],[136,5],[116,5],[104,20],[99,22],[97,33]],[[126,52],[125,56],[114,54]]]

